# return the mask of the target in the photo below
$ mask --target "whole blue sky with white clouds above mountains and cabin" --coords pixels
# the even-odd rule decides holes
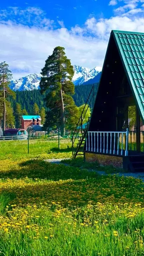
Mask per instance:
[[[18,79],[60,45],[73,65],[102,67],[112,29],[144,32],[144,0],[2,1],[0,61]]]

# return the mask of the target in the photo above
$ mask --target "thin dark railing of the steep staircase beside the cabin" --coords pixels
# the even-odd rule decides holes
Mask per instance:
[[[92,94],[92,97],[91,97],[90,102],[89,102],[89,104],[88,104],[88,100],[89,100],[91,94]],[[74,130],[74,133],[73,133],[73,135],[72,135],[72,138],[71,138],[71,141],[72,141],[72,154],[74,154],[74,142],[75,142],[75,140],[76,140],[76,138],[77,138],[77,135],[79,134],[79,130],[81,129],[81,134],[83,133],[83,128],[82,128],[83,120],[84,120],[84,118],[85,118],[85,115],[86,115],[86,113],[87,113],[87,110],[88,110],[88,108],[89,108],[89,106],[90,106],[90,103],[91,103],[92,99],[93,99],[93,104],[94,104],[94,85],[92,86],[92,88],[91,88],[91,90],[90,90],[89,96],[88,96],[88,98],[87,98],[87,101],[86,101],[86,103],[85,103],[85,106],[84,106],[84,108],[83,108],[83,111],[82,111],[82,113],[81,113],[81,115],[80,115],[79,121],[78,121],[78,123],[77,123],[77,126],[76,126],[76,128],[75,128],[75,130]],[[87,109],[86,109],[86,111],[85,111],[85,114],[84,114],[84,116],[82,116],[87,104],[88,104],[88,106],[87,106]],[[78,126],[79,126],[79,128],[78,128]],[[80,127],[81,127],[81,128],[80,128]],[[77,130],[77,132],[76,132],[76,130]],[[75,134],[75,133],[76,133],[76,134]],[[83,137],[83,136],[82,136],[82,137]]]

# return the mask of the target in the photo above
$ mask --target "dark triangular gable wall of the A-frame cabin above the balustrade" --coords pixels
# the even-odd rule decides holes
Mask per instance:
[[[118,96],[131,94],[129,90],[119,52],[111,35],[88,130],[116,131]]]

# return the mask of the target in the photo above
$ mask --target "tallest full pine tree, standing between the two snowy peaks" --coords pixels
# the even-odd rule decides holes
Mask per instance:
[[[66,113],[68,103],[73,102],[74,94],[73,66],[64,52],[65,48],[57,46],[51,56],[45,61],[41,72],[41,93],[47,91],[46,106],[49,109],[46,115],[46,124],[56,124],[61,128],[61,136],[65,136]]]

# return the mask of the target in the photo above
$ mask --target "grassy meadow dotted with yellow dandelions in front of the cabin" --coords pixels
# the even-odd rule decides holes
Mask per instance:
[[[69,140],[15,143],[0,142],[0,256],[144,255],[141,180],[44,161],[71,157]]]

